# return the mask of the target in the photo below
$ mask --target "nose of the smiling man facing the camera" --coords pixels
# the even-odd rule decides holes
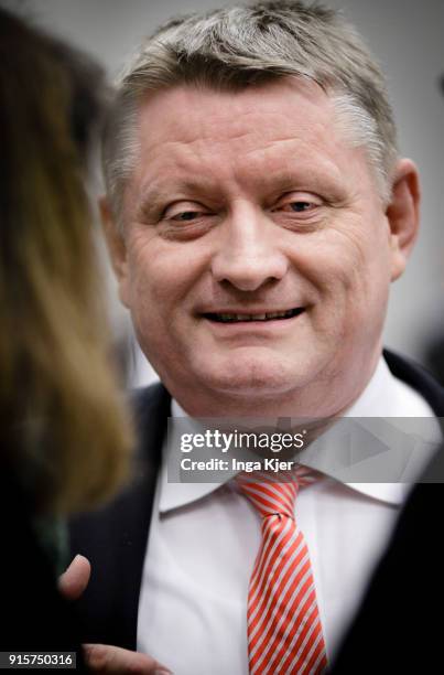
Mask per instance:
[[[227,215],[212,261],[213,277],[242,291],[282,279],[288,259],[279,235],[279,227],[255,208],[238,208]]]

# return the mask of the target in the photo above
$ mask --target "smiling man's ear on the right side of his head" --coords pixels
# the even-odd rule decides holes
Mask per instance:
[[[386,215],[390,226],[391,280],[405,269],[420,225],[420,180],[415,164],[398,161],[393,172],[392,194]]]

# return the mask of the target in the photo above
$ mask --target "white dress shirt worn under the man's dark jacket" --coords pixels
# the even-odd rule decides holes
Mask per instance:
[[[173,417],[185,413],[176,401]],[[351,417],[433,417],[381,357]],[[174,451],[164,448],[165,453]],[[248,675],[247,598],[259,515],[231,483],[159,475],[139,601],[138,650],[175,675]],[[393,528],[407,488],[326,478],[303,488],[295,515],[308,546],[332,660]]]

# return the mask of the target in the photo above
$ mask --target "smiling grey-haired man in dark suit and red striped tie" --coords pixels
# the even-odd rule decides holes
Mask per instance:
[[[120,298],[162,384],[136,397],[133,484],[73,528],[73,551],[93,566],[87,639],[184,674],[323,672],[400,486],[301,482],[292,517],[279,518],[303,550],[305,611],[286,592],[305,581],[280,548],[284,532],[272,547],[283,567],[270,568],[266,516],[239,481],[167,482],[176,449],[165,425],[169,415],[442,414],[437,385],[381,355],[420,200],[382,75],[322,8],[271,2],[173,20],[127,68],[105,170]],[[288,586],[272,586],[277,577]]]

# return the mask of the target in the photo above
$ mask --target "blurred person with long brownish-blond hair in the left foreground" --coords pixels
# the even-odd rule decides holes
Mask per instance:
[[[0,10],[1,651],[78,649],[63,517],[128,471],[85,183],[105,101],[96,65]]]

